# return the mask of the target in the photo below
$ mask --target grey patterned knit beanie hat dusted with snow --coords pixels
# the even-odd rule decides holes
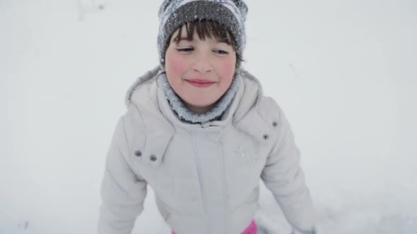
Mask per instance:
[[[243,0],[165,0],[158,16],[158,53],[162,68],[172,33],[184,23],[196,20],[213,20],[225,25],[233,35],[237,54],[243,54],[247,16],[247,5]]]

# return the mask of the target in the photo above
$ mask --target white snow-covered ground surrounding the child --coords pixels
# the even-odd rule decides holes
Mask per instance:
[[[95,233],[124,92],[158,64],[160,3],[0,0],[0,234]],[[244,66],[293,126],[320,233],[417,233],[417,1],[247,4]],[[261,203],[289,233],[264,187]],[[169,233],[152,192],[134,233]]]

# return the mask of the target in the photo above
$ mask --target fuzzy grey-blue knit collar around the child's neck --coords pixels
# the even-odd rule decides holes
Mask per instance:
[[[229,89],[218,99],[215,106],[206,113],[194,113],[187,109],[182,99],[172,90],[165,73],[160,74],[160,83],[165,93],[165,97],[170,104],[171,110],[185,123],[203,124],[210,121],[219,121],[223,113],[232,103],[239,86],[239,82],[234,78]]]

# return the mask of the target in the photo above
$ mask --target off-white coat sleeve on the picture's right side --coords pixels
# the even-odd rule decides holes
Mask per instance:
[[[288,120],[279,107],[278,111],[278,138],[262,171],[262,180],[293,228],[300,231],[312,230],[315,226],[315,208],[300,168],[300,152]]]

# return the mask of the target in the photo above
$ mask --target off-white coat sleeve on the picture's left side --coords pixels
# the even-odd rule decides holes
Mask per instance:
[[[107,152],[98,234],[131,233],[136,217],[143,210],[146,181],[131,169],[129,144],[124,129],[122,117]]]

